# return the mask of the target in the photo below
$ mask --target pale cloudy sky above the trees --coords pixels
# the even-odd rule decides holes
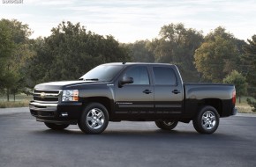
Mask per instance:
[[[71,21],[124,43],[157,38],[171,23],[204,35],[221,25],[247,40],[256,34],[256,0],[0,0],[2,18],[29,25],[30,38],[47,37],[62,21]]]

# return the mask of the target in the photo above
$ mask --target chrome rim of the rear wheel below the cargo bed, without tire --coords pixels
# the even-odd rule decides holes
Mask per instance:
[[[214,128],[216,125],[215,113],[213,113],[212,111],[207,111],[206,113],[203,113],[201,125],[206,130],[211,130],[212,128]]]

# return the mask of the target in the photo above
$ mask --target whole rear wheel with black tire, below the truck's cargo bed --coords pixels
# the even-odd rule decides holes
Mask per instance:
[[[200,134],[213,134],[219,127],[220,115],[215,107],[202,106],[192,122],[193,127]]]

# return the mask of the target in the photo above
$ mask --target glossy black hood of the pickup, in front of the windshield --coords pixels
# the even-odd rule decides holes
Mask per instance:
[[[50,82],[35,85],[35,90],[63,90],[69,87],[76,87],[82,84],[95,84],[99,82],[95,81],[60,81],[60,82]]]

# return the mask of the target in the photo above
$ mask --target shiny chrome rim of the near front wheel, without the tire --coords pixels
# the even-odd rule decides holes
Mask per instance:
[[[87,113],[87,126],[92,129],[99,129],[105,121],[104,113],[99,108],[93,108]]]

